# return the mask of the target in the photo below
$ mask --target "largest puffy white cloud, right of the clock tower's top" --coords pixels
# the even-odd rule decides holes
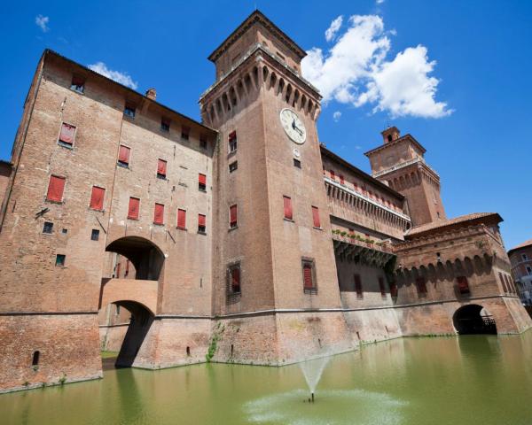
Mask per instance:
[[[369,104],[373,112],[394,118],[440,118],[452,113],[446,103],[435,99],[440,81],[430,75],[436,63],[429,60],[426,47],[409,47],[390,59],[388,35],[393,34],[385,31],[377,15],[351,16],[331,49],[314,47],[307,52],[303,75],[320,89],[325,104],[332,100]]]

